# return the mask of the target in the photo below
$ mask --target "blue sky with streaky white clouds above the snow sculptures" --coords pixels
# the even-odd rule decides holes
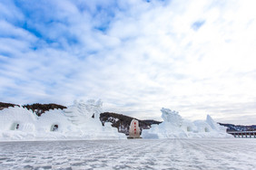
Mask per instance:
[[[256,124],[254,0],[1,0],[0,101]]]

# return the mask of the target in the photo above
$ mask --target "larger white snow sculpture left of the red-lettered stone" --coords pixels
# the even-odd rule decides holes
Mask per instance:
[[[101,100],[75,100],[67,109],[46,111],[41,117],[20,107],[0,110],[0,141],[125,139],[110,123],[103,127],[102,106]]]

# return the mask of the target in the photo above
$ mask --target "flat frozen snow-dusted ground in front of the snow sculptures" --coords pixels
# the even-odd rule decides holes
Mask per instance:
[[[0,142],[0,169],[256,169],[256,139]]]

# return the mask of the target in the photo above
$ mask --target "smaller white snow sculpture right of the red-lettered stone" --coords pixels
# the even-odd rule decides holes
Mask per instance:
[[[205,121],[182,119],[179,112],[161,109],[163,122],[143,129],[143,138],[184,138],[184,137],[232,137],[226,127],[217,124],[209,115]]]

